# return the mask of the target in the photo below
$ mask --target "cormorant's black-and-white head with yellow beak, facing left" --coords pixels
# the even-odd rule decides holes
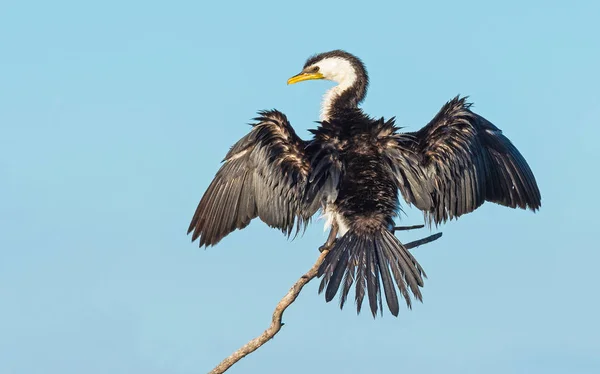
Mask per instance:
[[[294,84],[312,79],[327,79],[337,82],[345,88],[357,86],[360,91],[366,91],[368,75],[362,61],[342,50],[320,53],[306,60],[302,71],[288,79],[288,84]]]

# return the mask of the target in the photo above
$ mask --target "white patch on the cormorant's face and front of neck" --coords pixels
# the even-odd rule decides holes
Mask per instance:
[[[344,91],[352,87],[358,79],[356,71],[352,64],[343,58],[330,57],[319,61],[319,71],[325,79],[337,82],[338,85],[327,90],[321,103],[321,121],[327,121],[330,118],[332,105]]]

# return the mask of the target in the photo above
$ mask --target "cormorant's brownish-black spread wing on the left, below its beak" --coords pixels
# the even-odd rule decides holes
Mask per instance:
[[[310,219],[303,213],[309,162],[305,144],[286,116],[262,111],[252,130],[224,159],[190,223],[192,241],[215,245],[256,217],[290,235]]]

